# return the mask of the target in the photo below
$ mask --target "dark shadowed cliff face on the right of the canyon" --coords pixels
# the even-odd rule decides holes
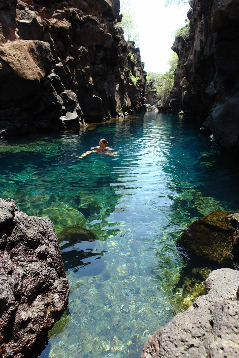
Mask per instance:
[[[239,150],[239,3],[194,0],[189,38],[177,37],[175,84],[168,108],[183,109],[210,128],[221,146]]]

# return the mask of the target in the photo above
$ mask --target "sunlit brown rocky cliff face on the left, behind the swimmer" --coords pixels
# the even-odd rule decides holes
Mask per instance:
[[[142,108],[144,64],[116,26],[119,6],[0,1],[0,135],[64,130]]]

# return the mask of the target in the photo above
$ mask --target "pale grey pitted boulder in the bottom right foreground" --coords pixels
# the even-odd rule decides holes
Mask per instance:
[[[212,271],[206,280],[207,295],[155,332],[141,358],[237,358],[238,286],[239,271]]]

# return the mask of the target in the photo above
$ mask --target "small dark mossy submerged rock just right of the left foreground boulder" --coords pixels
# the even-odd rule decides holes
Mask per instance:
[[[91,230],[80,225],[70,225],[57,234],[59,242],[68,241],[71,245],[82,241],[95,241],[97,236]]]

